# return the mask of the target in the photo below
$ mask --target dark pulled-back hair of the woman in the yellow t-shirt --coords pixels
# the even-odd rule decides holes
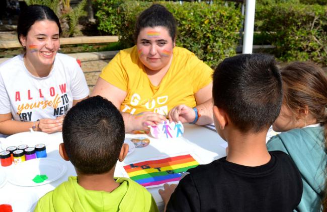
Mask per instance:
[[[173,14],[162,5],[154,4],[144,10],[137,18],[134,32],[135,43],[143,28],[157,26],[166,27],[172,40],[175,41],[177,26]]]

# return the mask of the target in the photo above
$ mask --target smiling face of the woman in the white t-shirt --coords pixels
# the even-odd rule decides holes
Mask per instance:
[[[60,47],[59,28],[56,22],[36,21],[27,36],[20,37],[26,47],[26,59],[34,66],[51,66]]]

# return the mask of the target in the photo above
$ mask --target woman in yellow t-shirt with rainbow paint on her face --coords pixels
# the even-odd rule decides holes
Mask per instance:
[[[125,131],[166,120],[212,123],[212,69],[176,47],[176,21],[161,5],[138,17],[136,45],[121,50],[102,70],[92,96],[110,100],[123,114]]]

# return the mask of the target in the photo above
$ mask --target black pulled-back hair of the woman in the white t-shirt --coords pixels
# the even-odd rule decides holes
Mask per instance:
[[[20,14],[17,24],[17,37],[21,43],[20,36],[26,37],[32,25],[36,21],[49,20],[56,22],[59,28],[59,35],[61,34],[61,26],[56,14],[47,6],[43,5],[30,5],[26,7]],[[22,44],[22,43],[21,43]]]

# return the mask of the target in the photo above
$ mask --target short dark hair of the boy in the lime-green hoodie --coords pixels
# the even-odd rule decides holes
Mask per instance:
[[[62,125],[67,156],[83,174],[102,174],[117,163],[125,139],[123,117],[101,96],[90,97],[73,106]]]

